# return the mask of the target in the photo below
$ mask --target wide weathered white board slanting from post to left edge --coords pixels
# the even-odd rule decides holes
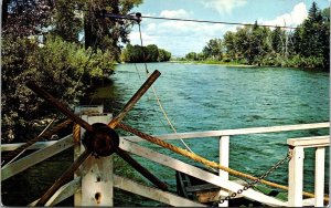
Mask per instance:
[[[45,160],[46,158],[52,157],[53,155],[56,155],[57,153],[70,148],[73,145],[73,136],[68,135],[49,147],[36,150],[35,153],[32,153],[26,157],[23,157],[17,162],[13,162],[12,164],[9,164],[3,169],[1,169],[1,181],[28,169],[29,167],[35,164]]]

